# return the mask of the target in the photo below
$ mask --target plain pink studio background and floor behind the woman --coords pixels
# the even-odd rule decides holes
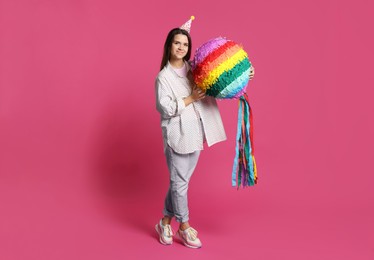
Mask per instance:
[[[372,1],[202,2],[0,1],[1,259],[374,259]],[[228,140],[190,184],[201,250],[154,231],[154,79],[190,15],[193,50],[226,36],[256,67],[259,184],[231,187],[237,102],[220,101]]]

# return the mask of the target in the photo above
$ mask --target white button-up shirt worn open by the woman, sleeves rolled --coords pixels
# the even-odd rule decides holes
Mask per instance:
[[[179,76],[168,63],[156,78],[156,108],[161,114],[164,146],[169,145],[181,154],[203,150],[203,140],[208,146],[226,140],[221,115],[215,98],[206,96],[188,106],[184,98],[192,92],[191,67],[187,77]]]

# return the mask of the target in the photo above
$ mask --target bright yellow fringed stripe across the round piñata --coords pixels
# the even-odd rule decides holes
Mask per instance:
[[[217,79],[224,71],[231,70],[233,67],[235,67],[236,64],[246,59],[247,57],[247,53],[243,49],[239,50],[232,57],[229,57],[225,62],[221,63],[217,68],[212,70],[209,75],[204,78],[202,82],[197,83],[197,85],[201,89],[206,91],[211,85],[216,83]]]

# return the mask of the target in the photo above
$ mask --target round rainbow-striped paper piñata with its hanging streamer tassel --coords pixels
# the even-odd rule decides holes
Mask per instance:
[[[236,155],[232,170],[232,186],[257,183],[253,147],[253,119],[245,93],[251,62],[243,48],[223,37],[212,39],[195,52],[192,74],[196,85],[206,95],[219,99],[239,99]]]

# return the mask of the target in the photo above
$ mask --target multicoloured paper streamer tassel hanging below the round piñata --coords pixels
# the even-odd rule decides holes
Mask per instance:
[[[236,155],[232,168],[232,186],[247,187],[257,183],[257,167],[253,145],[253,116],[247,93],[239,99]]]

